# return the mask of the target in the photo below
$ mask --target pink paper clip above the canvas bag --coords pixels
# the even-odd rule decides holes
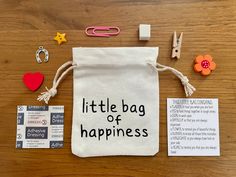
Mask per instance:
[[[110,31],[110,32],[99,32],[99,31]],[[116,36],[120,33],[120,28],[116,26],[90,26],[85,29],[87,36],[94,37],[110,37]]]

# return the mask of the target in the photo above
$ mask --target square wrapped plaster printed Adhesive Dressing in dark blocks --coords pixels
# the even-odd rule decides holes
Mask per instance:
[[[16,148],[62,148],[64,106],[17,106]]]

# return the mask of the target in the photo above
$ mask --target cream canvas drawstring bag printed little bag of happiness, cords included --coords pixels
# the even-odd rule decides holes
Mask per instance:
[[[156,63],[157,47],[73,48],[53,86],[38,97],[48,103],[74,70],[72,153],[80,157],[152,156],[159,151],[158,71],[169,70],[186,96],[195,88],[181,72]]]

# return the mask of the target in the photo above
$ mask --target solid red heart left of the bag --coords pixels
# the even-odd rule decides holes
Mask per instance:
[[[40,72],[36,73],[25,73],[23,76],[23,82],[25,86],[31,91],[36,91],[42,85],[44,75]]]

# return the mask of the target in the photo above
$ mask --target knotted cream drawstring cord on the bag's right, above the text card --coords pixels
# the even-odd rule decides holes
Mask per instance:
[[[193,94],[193,92],[196,91],[195,87],[189,83],[187,76],[184,76],[180,71],[178,71],[172,67],[162,65],[160,63],[156,63],[156,65],[154,65],[151,62],[147,62],[147,63],[150,66],[152,66],[155,69],[155,71],[157,71],[157,72],[158,71],[171,71],[174,75],[176,75],[180,79],[182,85],[184,86],[184,91],[185,91],[186,97],[191,96]]]

